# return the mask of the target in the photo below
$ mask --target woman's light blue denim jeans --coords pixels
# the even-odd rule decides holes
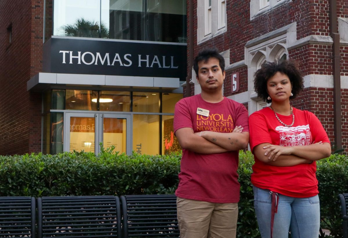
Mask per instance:
[[[271,197],[269,190],[254,186],[254,207],[262,238],[271,237]],[[317,238],[320,228],[319,196],[293,198],[279,194],[274,216],[273,238]]]

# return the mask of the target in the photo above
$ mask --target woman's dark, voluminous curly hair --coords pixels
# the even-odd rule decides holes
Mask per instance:
[[[289,60],[266,61],[254,74],[254,88],[258,96],[267,103],[272,101],[267,99],[267,80],[277,72],[287,75],[290,79],[293,93],[290,99],[294,99],[303,89],[302,73],[295,62]]]

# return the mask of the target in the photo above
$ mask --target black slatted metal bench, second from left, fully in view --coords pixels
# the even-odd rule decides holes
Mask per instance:
[[[121,237],[119,198],[38,198],[38,237]]]

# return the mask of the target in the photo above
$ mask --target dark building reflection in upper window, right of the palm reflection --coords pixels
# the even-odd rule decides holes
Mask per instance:
[[[110,38],[186,43],[186,1],[110,0],[109,4]]]

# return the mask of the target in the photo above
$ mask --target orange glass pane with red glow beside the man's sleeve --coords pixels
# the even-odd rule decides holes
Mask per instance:
[[[174,116],[162,116],[162,154],[180,151],[181,147],[173,131]]]

